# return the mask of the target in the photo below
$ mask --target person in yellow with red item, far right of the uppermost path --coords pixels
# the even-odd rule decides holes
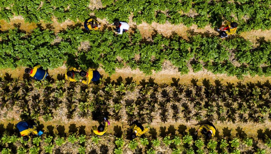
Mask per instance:
[[[217,31],[221,31],[220,37],[228,37],[228,35],[236,33],[237,23],[232,21],[227,21],[225,25],[222,25]]]

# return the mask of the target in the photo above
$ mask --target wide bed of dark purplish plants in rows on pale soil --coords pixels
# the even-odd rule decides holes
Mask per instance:
[[[109,79],[109,78],[108,78]],[[107,81],[107,82],[106,82]],[[110,83],[102,79],[90,86],[64,80],[28,81],[0,78],[1,114],[6,118],[9,109],[21,118],[42,117],[45,121],[110,117],[131,122],[141,119],[151,123],[181,121],[231,121],[265,123],[271,117],[271,86],[264,84],[171,86],[142,81],[137,85],[126,82]],[[11,118],[9,116],[9,118]]]

